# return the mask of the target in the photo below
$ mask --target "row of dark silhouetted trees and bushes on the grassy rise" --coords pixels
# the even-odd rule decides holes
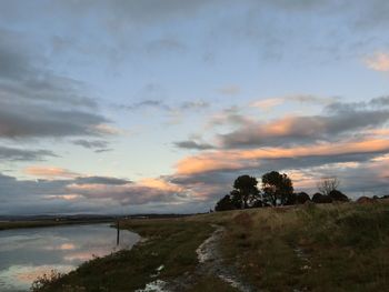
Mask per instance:
[[[258,180],[248,174],[238,177],[233,182],[233,190],[217,202],[215,211],[236,209],[303,204],[307,201],[315,203],[347,202],[346,194],[337,190],[339,180],[323,179],[318,183],[319,193],[312,199],[308,193],[293,192],[293,183],[286,173],[271,171],[261,178],[261,188]]]

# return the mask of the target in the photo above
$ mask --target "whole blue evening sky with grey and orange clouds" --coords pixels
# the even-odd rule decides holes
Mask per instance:
[[[387,0],[0,0],[0,215],[389,194]]]

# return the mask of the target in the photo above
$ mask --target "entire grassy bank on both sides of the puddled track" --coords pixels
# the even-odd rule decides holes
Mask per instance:
[[[226,226],[226,262],[260,291],[385,291],[389,284],[389,205],[381,201],[130,220],[122,228],[146,242],[84,263],[40,291],[134,291],[183,275],[191,279],[187,291],[235,291],[193,273],[210,223]]]

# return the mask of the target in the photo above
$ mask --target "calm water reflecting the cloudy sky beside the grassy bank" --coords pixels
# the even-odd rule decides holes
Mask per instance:
[[[80,263],[119,249],[139,236],[109,224],[88,224],[0,231],[0,291],[29,291],[32,281],[51,270],[69,272]]]

